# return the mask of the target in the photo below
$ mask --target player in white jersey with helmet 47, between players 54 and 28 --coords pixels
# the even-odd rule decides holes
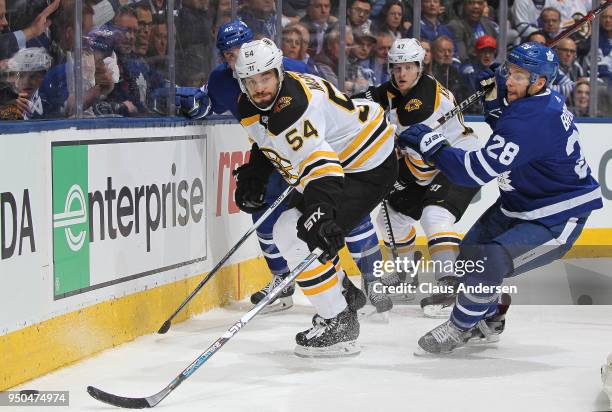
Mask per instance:
[[[365,97],[380,103],[388,110],[390,121],[396,126],[396,134],[417,123],[433,126],[457,102],[453,94],[435,78],[423,74],[424,58],[425,50],[418,40],[395,40],[388,56],[391,80],[353,97]],[[464,124],[461,114],[444,123],[440,130],[451,146],[464,150],[478,148],[477,136]],[[377,219],[384,236],[387,258],[391,255],[389,246],[392,235],[400,259],[419,260],[420,254],[415,249],[415,226],[419,222],[427,236],[430,261],[433,263],[426,267],[433,270],[438,286],[456,284],[454,272],[445,272],[444,269],[452,267],[459,254],[461,234],[455,229],[455,223],[461,219],[478,190],[452,183],[434,166],[425,163],[416,151],[408,149],[400,159],[398,181],[388,198],[392,233],[388,233],[389,222],[382,208]],[[393,286],[400,281],[416,284],[417,274],[412,272],[410,275],[414,278],[412,282],[405,279],[405,273],[397,272],[386,274],[382,281]],[[454,300],[452,295],[438,293],[424,298],[421,307],[426,316],[447,317]]]

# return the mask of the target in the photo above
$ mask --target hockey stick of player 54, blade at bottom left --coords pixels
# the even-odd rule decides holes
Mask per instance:
[[[144,398],[129,398],[125,396],[113,395],[112,393],[104,392],[103,390],[87,387],[87,393],[100,402],[108,403],[109,405],[118,406],[120,408],[143,409],[152,408],[160,403],[166,396],[175,390],[183,381],[189,378],[200,366],[210,359],[223,345],[225,345],[236,333],[240,331],[251,319],[255,317],[268,303],[280,295],[281,291],[289,286],[312,262],[314,262],[323,251],[319,248],[315,249],[308,257],[306,257],[289,275],[266,295],[259,303],[247,313],[242,315],[240,320],[234,323],[230,328],[204,352],[200,354],[187,368],[185,368],[176,378],[172,380],[164,389],[154,395]]]

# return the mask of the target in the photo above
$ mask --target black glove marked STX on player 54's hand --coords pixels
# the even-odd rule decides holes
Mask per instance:
[[[327,262],[338,254],[344,246],[344,233],[335,222],[336,211],[327,204],[319,203],[308,207],[298,219],[298,237],[308,245],[312,252],[320,248],[321,263]]]

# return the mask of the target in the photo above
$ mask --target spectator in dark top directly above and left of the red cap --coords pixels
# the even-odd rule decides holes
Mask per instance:
[[[495,23],[483,16],[485,0],[463,0],[463,15],[448,23],[455,35],[459,59],[466,62],[476,55],[476,39],[484,36],[497,36]],[[434,60],[436,60],[434,52]]]

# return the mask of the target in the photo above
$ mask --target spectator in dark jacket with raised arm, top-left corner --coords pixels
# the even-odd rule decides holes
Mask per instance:
[[[60,0],[54,0],[23,30],[8,31],[6,20],[6,0],[0,0],[0,60],[8,59],[19,49],[26,47],[26,43],[43,34],[51,25],[49,16],[60,6]]]

